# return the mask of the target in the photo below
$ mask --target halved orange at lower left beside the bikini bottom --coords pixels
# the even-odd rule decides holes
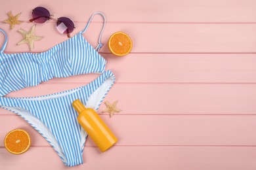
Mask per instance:
[[[14,129],[5,136],[5,148],[12,154],[23,154],[30,148],[30,136],[22,129]]]

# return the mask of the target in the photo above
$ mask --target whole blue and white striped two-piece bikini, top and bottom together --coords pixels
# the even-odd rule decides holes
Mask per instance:
[[[104,18],[100,12],[95,14]],[[104,71],[106,60],[97,52],[102,46],[100,38],[96,51],[82,35],[93,16],[83,31],[39,54],[5,54],[3,51],[7,45],[7,35],[0,30],[6,37],[0,52],[0,107],[22,116],[53,146],[66,166],[83,163],[82,154],[87,138],[87,133],[77,122],[77,112],[72,102],[80,99],[87,107],[98,110],[115,81],[111,71]],[[86,86],[65,92],[39,97],[3,97],[9,92],[35,86],[53,77],[85,73],[102,75]]]

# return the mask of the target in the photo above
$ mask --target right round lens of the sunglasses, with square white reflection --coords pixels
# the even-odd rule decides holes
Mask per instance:
[[[72,33],[75,25],[70,18],[60,17],[56,22],[56,27],[60,33],[69,34]]]

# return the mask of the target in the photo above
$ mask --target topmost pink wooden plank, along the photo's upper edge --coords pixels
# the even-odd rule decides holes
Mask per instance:
[[[0,20],[7,18],[7,12],[22,12],[21,20],[28,21],[32,9],[43,6],[54,16],[67,16],[74,21],[85,22],[98,10],[106,14],[108,22],[256,22],[255,1],[244,0],[160,0],[160,1],[100,1],[77,0],[70,5],[68,0],[22,1],[9,0],[0,7]],[[22,7],[22,8],[20,8]],[[61,8],[60,8],[61,7]],[[99,21],[100,18],[96,18]]]

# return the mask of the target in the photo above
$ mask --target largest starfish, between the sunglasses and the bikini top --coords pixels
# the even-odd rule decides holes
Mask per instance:
[[[30,31],[26,32],[23,29],[18,29],[18,32],[22,34],[22,41],[18,42],[18,45],[28,43],[30,46],[30,50],[33,50],[33,42],[43,39],[43,37],[39,37],[34,35],[35,33],[35,25],[30,28]]]

